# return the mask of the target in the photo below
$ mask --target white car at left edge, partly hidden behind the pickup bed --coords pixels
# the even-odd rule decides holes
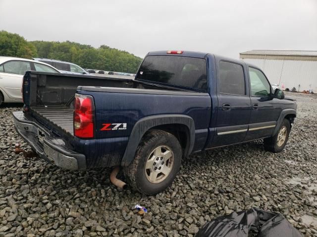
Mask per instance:
[[[60,73],[56,68],[31,59],[0,56],[0,105],[22,102],[22,80],[25,71]]]

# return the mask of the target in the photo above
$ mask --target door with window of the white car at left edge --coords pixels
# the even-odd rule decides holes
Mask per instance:
[[[27,70],[31,70],[27,61],[12,60],[0,66],[0,87],[11,99],[22,100],[22,79]]]

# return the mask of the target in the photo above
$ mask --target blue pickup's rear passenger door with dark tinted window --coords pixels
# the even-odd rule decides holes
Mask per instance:
[[[246,73],[242,63],[219,60],[216,65],[218,107],[211,147],[245,139],[251,112]]]

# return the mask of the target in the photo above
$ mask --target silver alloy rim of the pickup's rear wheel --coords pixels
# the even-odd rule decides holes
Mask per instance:
[[[167,178],[174,165],[174,154],[168,146],[159,146],[154,149],[145,163],[145,176],[154,184]]]

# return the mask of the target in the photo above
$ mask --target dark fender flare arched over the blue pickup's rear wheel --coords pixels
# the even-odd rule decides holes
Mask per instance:
[[[156,115],[141,118],[138,120],[129,137],[127,147],[121,160],[122,166],[127,166],[134,159],[135,152],[140,144],[143,135],[151,128],[165,124],[182,124],[189,131],[189,145],[184,155],[191,154],[195,143],[195,123],[193,118],[186,115]]]

